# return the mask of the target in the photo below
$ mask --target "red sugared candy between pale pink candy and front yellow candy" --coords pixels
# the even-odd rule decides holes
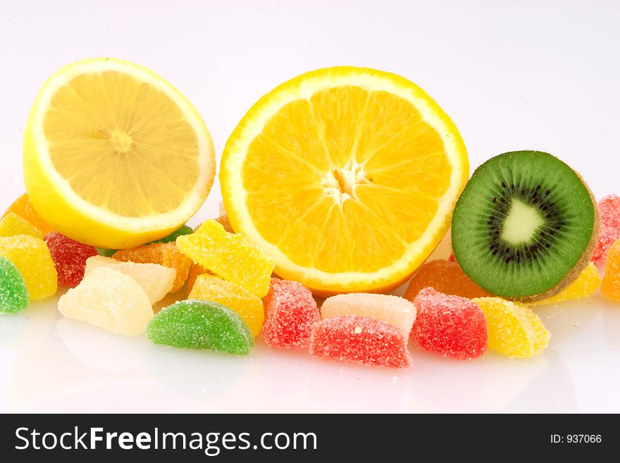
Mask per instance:
[[[414,305],[418,310],[411,341],[443,357],[470,360],[487,350],[488,330],[478,304],[433,288],[421,290]]]

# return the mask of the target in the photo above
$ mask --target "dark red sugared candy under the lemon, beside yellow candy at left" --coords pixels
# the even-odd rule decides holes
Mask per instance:
[[[45,242],[49,247],[51,259],[58,273],[58,285],[75,288],[84,278],[86,260],[97,256],[97,249],[89,245],[73,241],[71,238],[58,232],[45,235]]]

